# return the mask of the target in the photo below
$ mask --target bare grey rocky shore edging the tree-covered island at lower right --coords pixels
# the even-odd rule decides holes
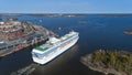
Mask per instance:
[[[129,75],[127,72],[123,71],[117,71],[116,68],[112,67],[106,67],[106,65],[101,64],[99,62],[92,63],[92,54],[87,54],[86,56],[81,56],[80,57],[80,62],[87,66],[88,68],[96,71],[96,72],[100,72],[103,73],[105,75],[109,75],[109,74],[114,74],[114,75]]]

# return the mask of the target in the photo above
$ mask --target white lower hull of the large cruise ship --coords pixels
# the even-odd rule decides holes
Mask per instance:
[[[61,47],[58,46],[57,50],[55,50],[54,52],[50,53],[48,55],[45,55],[41,58],[36,57],[36,56],[32,56],[33,57],[33,61],[35,63],[38,63],[38,64],[46,64],[48,63],[50,61],[54,60],[56,56],[58,56],[59,54],[62,54],[63,52],[67,51],[69,47],[72,47],[76,42],[78,41],[78,38],[76,38],[75,40],[73,41],[69,41],[68,44],[66,44],[66,46],[64,47]]]

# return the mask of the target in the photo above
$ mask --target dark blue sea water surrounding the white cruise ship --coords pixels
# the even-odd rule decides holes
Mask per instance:
[[[47,28],[59,35],[74,30],[79,32],[79,40],[75,46],[63,53],[51,63],[37,67],[31,75],[102,75],[84,66],[79,60],[96,50],[132,51],[132,35],[123,33],[132,30],[132,15],[106,17],[87,14],[78,18],[46,18],[35,15],[18,17],[20,21],[31,21]],[[40,21],[42,20],[42,22]],[[80,23],[85,21],[86,23]],[[61,30],[58,28],[62,28]],[[10,73],[32,64],[31,50],[23,50],[0,61],[0,75]]]

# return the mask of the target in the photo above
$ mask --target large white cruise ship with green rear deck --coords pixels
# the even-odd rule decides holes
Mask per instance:
[[[59,39],[51,36],[45,44],[32,50],[32,58],[37,64],[46,64],[72,47],[79,39],[78,32],[72,31]]]

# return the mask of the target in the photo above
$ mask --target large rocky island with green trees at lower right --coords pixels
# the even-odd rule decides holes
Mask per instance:
[[[127,51],[98,50],[86,56],[80,62],[92,71],[114,75],[132,75],[132,54]]]

